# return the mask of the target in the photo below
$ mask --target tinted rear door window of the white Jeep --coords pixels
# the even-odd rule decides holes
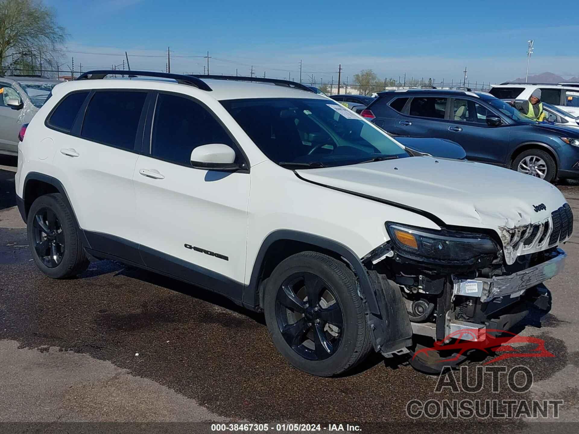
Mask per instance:
[[[86,108],[81,137],[118,148],[134,149],[146,92],[104,91]]]

